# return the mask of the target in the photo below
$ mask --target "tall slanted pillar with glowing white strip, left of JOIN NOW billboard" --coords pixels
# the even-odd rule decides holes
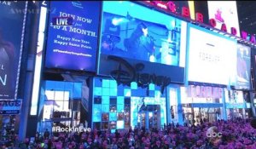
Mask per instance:
[[[36,29],[32,32],[31,40],[35,45],[32,44],[29,47],[32,49],[32,54],[27,60],[26,83],[24,85],[24,105],[22,105],[20,114],[22,119],[20,119],[19,140],[24,140],[25,137],[34,136],[37,131],[38,123],[38,98],[48,5],[46,1],[42,1],[41,3],[34,2],[33,4],[35,4],[34,9],[40,9],[40,14],[36,14],[35,22],[32,23],[32,26],[35,26]],[[29,29],[32,29],[31,26],[29,26]],[[36,49],[36,54],[34,54],[34,49]]]

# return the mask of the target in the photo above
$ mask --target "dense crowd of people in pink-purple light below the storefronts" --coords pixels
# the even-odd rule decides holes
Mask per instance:
[[[201,122],[196,126],[169,123],[162,129],[135,128],[115,133],[93,129],[80,134],[50,135],[46,131],[43,135],[37,133],[34,140],[26,138],[18,146],[38,149],[255,149],[256,129],[250,121],[237,118]]]

